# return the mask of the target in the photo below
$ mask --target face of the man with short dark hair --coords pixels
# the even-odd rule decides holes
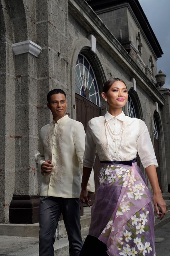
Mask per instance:
[[[66,114],[67,102],[66,97],[62,93],[53,94],[50,96],[50,102],[47,107],[51,110],[53,118],[60,119]]]

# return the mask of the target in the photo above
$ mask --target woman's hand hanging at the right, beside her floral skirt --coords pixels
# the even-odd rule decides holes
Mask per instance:
[[[166,214],[166,203],[162,197],[161,191],[160,193],[154,193],[153,202],[154,202],[155,210],[158,215],[157,218],[161,220]],[[161,210],[159,210],[158,207],[160,207]]]

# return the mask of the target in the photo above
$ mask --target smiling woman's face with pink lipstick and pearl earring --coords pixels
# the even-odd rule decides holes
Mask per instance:
[[[104,99],[107,99],[109,107],[122,108],[128,100],[126,85],[121,81],[115,81],[107,93],[102,93]]]

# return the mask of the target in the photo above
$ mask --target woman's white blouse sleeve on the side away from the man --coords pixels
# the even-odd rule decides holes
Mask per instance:
[[[144,169],[150,165],[155,165],[155,167],[158,167],[154,147],[152,145],[147,126],[142,120],[139,122],[137,151]]]

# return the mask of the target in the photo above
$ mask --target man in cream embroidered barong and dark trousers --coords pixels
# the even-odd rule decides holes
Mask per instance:
[[[61,213],[70,256],[79,256],[82,247],[79,196],[85,131],[82,123],[66,114],[63,90],[49,91],[47,101],[53,121],[42,127],[39,138],[38,167],[44,176],[39,206],[39,256],[54,255],[53,244]],[[94,192],[93,175],[88,190]]]

